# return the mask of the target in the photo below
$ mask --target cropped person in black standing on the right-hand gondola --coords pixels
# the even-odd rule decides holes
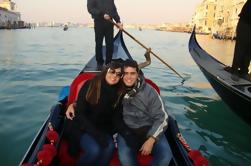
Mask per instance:
[[[248,67],[251,59],[251,0],[247,0],[240,14],[236,29],[236,44],[232,63],[233,79],[238,80],[236,75],[250,80]]]

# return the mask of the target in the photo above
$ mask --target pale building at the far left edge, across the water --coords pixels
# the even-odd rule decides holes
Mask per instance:
[[[0,28],[18,28],[23,24],[16,4],[11,0],[0,0]]]

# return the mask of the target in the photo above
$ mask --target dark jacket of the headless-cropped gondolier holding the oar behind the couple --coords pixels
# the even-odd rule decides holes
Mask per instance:
[[[108,14],[117,23],[120,22],[114,0],[87,0],[87,9],[95,20],[104,19],[104,14]]]

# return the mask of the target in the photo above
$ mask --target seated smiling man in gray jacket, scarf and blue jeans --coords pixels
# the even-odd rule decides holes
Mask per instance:
[[[157,91],[139,75],[137,62],[124,62],[125,95],[115,118],[122,166],[138,165],[137,153],[153,155],[151,165],[168,165],[172,153],[164,132],[168,115]]]

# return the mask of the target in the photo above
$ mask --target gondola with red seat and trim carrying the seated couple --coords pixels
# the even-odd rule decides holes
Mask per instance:
[[[123,33],[119,31],[114,38],[113,59],[132,59],[125,46],[122,34]],[[105,52],[105,48],[103,51]],[[72,84],[62,88],[58,102],[51,108],[50,115],[43,123],[19,165],[74,165],[77,158],[69,156],[67,152],[67,142],[63,138],[65,110],[67,105],[75,100],[77,91],[80,86],[82,86],[83,82],[92,78],[98,72],[96,69],[96,60],[93,57],[73,80]],[[150,79],[146,80],[159,92],[159,88],[154,82]],[[168,130],[165,132],[165,136],[173,153],[171,165],[192,166],[208,163],[198,150],[192,150],[186,143],[179,131],[177,122],[170,115],[168,120]],[[141,166],[148,165],[151,156],[141,156],[139,154],[138,160]],[[109,165],[119,165],[116,150]]]

